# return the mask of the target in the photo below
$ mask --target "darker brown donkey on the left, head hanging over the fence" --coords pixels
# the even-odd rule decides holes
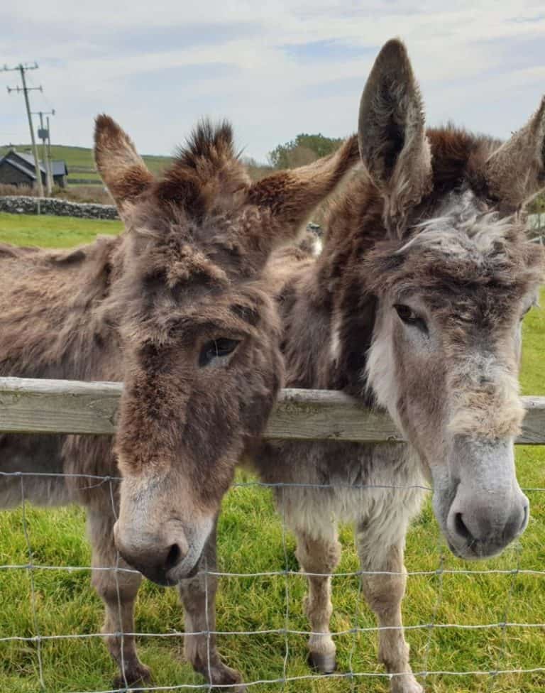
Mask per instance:
[[[214,630],[205,603],[216,586],[209,577],[205,594],[197,571],[214,567],[221,498],[283,375],[263,268],[358,160],[358,144],[252,185],[230,127],[204,123],[154,180],[128,136],[99,116],[95,156],[126,231],[67,252],[0,246],[0,375],[122,380],[115,454],[106,436],[0,435],[0,506],[21,502],[16,472],[30,474],[28,501],[85,506],[92,581],[126,685],[148,679],[133,637],[116,635],[134,632],[141,576],[104,568],[116,566],[117,547],[120,567],[180,583],[188,632]],[[118,476],[118,461],[112,496],[109,484],[78,476]],[[240,679],[214,638],[192,635],[185,647],[210,683]]]

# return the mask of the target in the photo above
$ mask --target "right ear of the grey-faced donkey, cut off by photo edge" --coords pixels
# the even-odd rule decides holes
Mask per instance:
[[[486,162],[492,197],[515,211],[545,187],[545,97],[527,124]]]

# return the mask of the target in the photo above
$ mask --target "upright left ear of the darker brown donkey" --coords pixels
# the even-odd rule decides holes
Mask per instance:
[[[126,202],[136,200],[153,182],[153,175],[127,133],[104,114],[95,121],[94,160],[120,213]]]

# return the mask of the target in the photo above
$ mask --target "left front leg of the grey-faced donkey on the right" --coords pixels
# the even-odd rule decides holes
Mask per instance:
[[[335,671],[335,643],[329,632],[331,606],[331,577],[319,573],[331,573],[341,558],[341,545],[336,538],[313,539],[307,533],[296,531],[297,551],[295,555],[304,572],[314,573],[307,577],[309,594],[304,600],[304,609],[309,618],[312,635],[309,638],[309,662],[319,672],[331,674]],[[316,574],[318,573],[318,574]]]

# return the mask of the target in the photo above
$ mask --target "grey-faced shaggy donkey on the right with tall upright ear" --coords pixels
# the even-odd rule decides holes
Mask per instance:
[[[354,523],[363,593],[395,693],[422,690],[400,604],[407,525],[434,486],[434,511],[458,557],[499,553],[526,528],[513,440],[521,322],[544,273],[524,203],[545,186],[545,99],[502,146],[453,129],[426,133],[402,43],[375,62],[360,104],[365,170],[331,208],[318,258],[277,251],[287,386],[338,388],[385,408],[408,444],[280,442],[256,455],[309,572],[314,665],[330,672],[336,523]],[[301,487],[301,484],[331,488]],[[325,574],[321,577],[320,574]]]

